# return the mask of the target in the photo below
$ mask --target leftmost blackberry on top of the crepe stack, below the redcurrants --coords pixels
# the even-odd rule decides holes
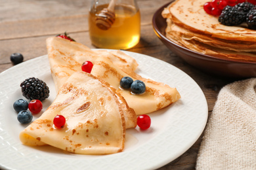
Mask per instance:
[[[231,6],[224,7],[219,22],[223,25],[233,26],[242,24],[245,21],[246,13]]]

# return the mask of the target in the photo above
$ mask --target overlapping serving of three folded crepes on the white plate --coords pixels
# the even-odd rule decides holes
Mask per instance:
[[[167,107],[181,97],[176,88],[137,75],[137,61],[120,50],[91,50],[57,37],[47,39],[47,50],[58,94],[20,133],[24,144],[49,144],[76,154],[121,152],[125,129],[137,126],[137,115]],[[91,73],[81,71],[85,61],[93,63]],[[146,92],[135,95],[119,88],[123,76],[142,80]],[[66,118],[62,129],[54,127],[57,114]]]

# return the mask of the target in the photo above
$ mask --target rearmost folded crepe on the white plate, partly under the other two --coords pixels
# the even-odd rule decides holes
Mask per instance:
[[[91,50],[79,42],[68,41],[58,37],[49,37],[46,42],[51,73],[57,92],[72,74],[76,71],[81,71],[81,65],[85,61],[94,63],[98,57],[104,57],[110,59],[120,69],[135,70],[138,66],[134,58],[120,50],[110,52],[106,50]],[[112,91],[114,92],[113,88]],[[123,97],[119,96],[118,99],[125,115],[125,127],[127,129],[136,127],[137,116],[134,110],[127,105]]]

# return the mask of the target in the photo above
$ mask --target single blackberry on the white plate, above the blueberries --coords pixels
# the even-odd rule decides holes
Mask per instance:
[[[20,87],[22,89],[22,95],[27,99],[39,99],[43,101],[49,97],[49,87],[43,80],[39,80],[38,78],[27,78],[20,84]]]

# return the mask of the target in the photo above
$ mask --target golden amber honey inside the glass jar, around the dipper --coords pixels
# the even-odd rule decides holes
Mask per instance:
[[[89,34],[93,45],[98,48],[128,49],[140,41],[140,11],[128,5],[116,5],[116,20],[108,30],[95,24],[96,15],[108,7],[99,5],[89,12]]]

